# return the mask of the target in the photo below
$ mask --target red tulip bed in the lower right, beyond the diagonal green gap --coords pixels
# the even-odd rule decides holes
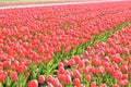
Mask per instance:
[[[130,87],[131,25],[110,35],[106,42],[95,41],[81,55],[59,62],[57,76],[43,75],[38,82],[47,87]],[[38,86],[37,79],[28,82]]]

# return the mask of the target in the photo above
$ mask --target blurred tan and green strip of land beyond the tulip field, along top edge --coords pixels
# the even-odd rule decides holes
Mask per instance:
[[[44,3],[63,3],[63,2],[91,2],[91,1],[110,1],[110,0],[0,0],[0,7],[22,5],[22,4],[44,4]]]

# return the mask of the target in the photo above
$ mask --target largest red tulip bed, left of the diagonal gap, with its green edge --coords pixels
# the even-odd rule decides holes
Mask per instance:
[[[60,61],[76,54],[68,52],[76,47],[84,51],[87,42],[94,42],[94,37],[116,32],[115,26],[131,20],[130,2],[102,4],[0,10],[1,85],[24,87],[33,79],[28,86],[37,87],[35,78],[38,78],[39,86],[61,87],[61,83],[70,83],[70,79],[62,79],[68,75],[57,78],[51,76],[57,75],[56,69]],[[62,13],[63,10],[66,12]],[[74,51],[81,52],[79,49]],[[75,73],[78,76],[78,71]]]

